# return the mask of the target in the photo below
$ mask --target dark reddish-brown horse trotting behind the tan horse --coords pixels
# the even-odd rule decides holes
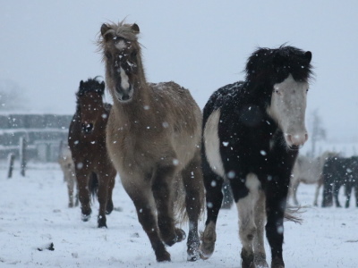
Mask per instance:
[[[100,82],[97,77],[81,80],[68,135],[80,191],[81,220],[90,220],[91,191],[93,197],[98,196],[98,228],[107,228],[106,214],[113,211],[112,191],[116,175],[107,155],[106,126],[111,105],[103,102],[104,91],[105,82]]]

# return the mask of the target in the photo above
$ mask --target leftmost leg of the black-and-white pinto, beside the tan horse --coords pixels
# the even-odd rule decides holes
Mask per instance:
[[[214,252],[215,241],[217,240],[217,215],[224,196],[221,191],[223,179],[211,171],[209,163],[205,159],[203,159],[202,164],[206,189],[207,221],[205,222],[205,230],[201,235],[200,258],[205,260]]]

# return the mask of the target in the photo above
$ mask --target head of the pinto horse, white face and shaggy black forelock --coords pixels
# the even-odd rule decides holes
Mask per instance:
[[[310,51],[293,46],[260,48],[246,66],[247,80],[266,90],[266,111],[284,133],[286,146],[292,149],[303,146],[308,139],[305,111],[311,56]]]

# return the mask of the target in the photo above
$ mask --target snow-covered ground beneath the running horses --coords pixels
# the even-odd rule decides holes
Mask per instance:
[[[114,204],[120,209],[107,217],[108,229],[98,229],[98,203],[90,222],[81,222],[79,207],[67,207],[66,187],[57,164],[32,164],[25,178],[19,173],[15,170],[8,180],[4,165],[0,169],[0,267],[240,267],[234,206],[219,214],[217,245],[209,260],[186,262],[182,242],[168,248],[171,263],[158,264],[118,178]],[[302,205],[312,204],[313,193],[313,186],[300,186]],[[340,198],[343,203],[342,194]],[[309,207],[302,225],[286,222],[286,267],[358,267],[358,208],[352,205],[354,201],[353,197],[348,209]],[[50,243],[54,243],[54,251],[38,251]],[[269,264],[267,243],[266,249]]]

